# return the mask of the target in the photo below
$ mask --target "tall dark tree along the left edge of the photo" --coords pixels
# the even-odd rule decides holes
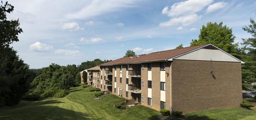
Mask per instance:
[[[14,6],[8,2],[0,5],[0,106],[18,104],[29,88],[31,72],[29,65],[19,58],[17,51],[10,47],[19,41],[22,32],[19,20],[8,20]]]

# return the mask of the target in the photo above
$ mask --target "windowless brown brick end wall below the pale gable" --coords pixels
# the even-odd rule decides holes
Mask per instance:
[[[174,60],[172,63],[173,110],[239,106],[241,90],[240,62]]]

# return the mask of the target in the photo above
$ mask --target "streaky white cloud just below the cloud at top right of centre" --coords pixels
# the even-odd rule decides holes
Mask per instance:
[[[160,26],[172,26],[181,24],[182,26],[190,25],[200,19],[201,16],[197,14],[189,14],[185,16],[171,18],[169,21],[160,23]]]

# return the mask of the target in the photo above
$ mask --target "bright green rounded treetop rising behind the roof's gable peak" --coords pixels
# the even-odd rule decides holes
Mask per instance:
[[[235,36],[232,33],[232,29],[220,23],[208,22],[207,25],[203,25],[200,29],[198,39],[192,39],[191,46],[212,43],[213,45],[221,48],[228,53],[237,52],[238,43],[233,43]]]

